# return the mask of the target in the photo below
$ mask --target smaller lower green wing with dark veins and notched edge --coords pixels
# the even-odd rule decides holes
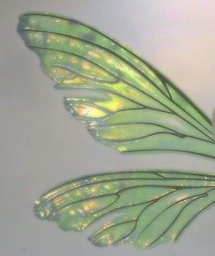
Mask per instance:
[[[214,202],[215,175],[134,171],[61,184],[36,201],[35,214],[57,221],[63,230],[80,231],[105,217],[90,238],[94,245],[130,243],[145,249],[177,240]]]

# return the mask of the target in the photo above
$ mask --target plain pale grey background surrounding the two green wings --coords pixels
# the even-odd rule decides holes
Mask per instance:
[[[70,117],[62,95],[16,34],[18,15],[50,11],[75,17],[131,46],[179,84],[211,117],[215,106],[215,2],[199,0],[0,1],[0,254],[213,255],[215,208],[177,244],[153,250],[100,249],[83,233],[38,220],[32,206],[49,187],[90,173],[134,168],[215,172],[214,161],[184,154],[123,155],[91,138]]]

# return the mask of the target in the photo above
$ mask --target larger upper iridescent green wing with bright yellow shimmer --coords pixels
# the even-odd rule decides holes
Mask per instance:
[[[91,135],[120,151],[184,151],[215,158],[211,121],[149,63],[100,31],[66,17],[31,13],[18,31],[59,88],[101,96],[66,97]]]

